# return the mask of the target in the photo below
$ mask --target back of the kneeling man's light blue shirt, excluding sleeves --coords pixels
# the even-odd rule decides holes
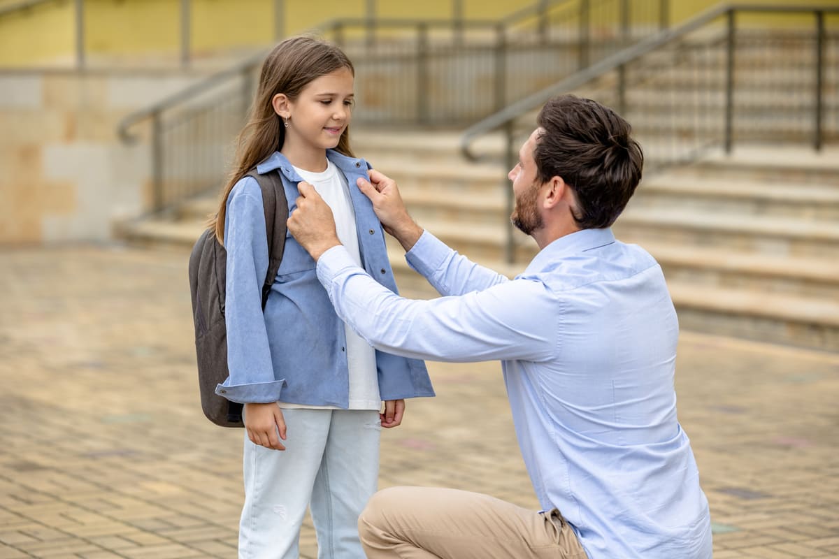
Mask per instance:
[[[676,420],[678,323],[659,265],[611,230],[546,246],[517,282],[545,286],[555,355],[503,362],[534,489],[591,559],[710,557],[708,506]]]

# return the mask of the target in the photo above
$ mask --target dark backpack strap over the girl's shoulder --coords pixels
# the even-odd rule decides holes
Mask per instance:
[[[283,179],[276,170],[259,174],[256,168],[248,172],[248,176],[256,179],[263,193],[263,210],[265,210],[265,233],[268,238],[268,272],[262,288],[263,310],[268,302],[268,293],[274,285],[274,278],[279,271],[279,263],[283,260],[285,250],[286,220],[289,219],[289,200],[285,197]]]

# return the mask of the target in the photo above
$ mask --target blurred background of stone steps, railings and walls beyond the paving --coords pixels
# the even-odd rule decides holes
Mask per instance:
[[[0,243],[191,246],[266,50],[300,33],[346,49],[356,152],[457,249],[529,261],[506,172],[573,92],[644,147],[616,230],[683,326],[839,348],[839,1],[2,0]]]

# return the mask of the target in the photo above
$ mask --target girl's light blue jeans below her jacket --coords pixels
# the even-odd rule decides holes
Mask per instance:
[[[245,433],[239,559],[297,559],[309,506],[318,559],[363,559],[358,516],[376,492],[378,411],[284,409],[285,450]]]

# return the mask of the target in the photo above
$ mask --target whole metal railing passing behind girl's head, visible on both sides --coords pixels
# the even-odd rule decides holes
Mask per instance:
[[[658,32],[665,4],[553,0],[498,22],[360,18],[322,27],[356,65],[354,122],[462,126]],[[217,188],[226,176],[264,55],[120,122],[127,142],[129,131],[150,122],[151,212]]]

